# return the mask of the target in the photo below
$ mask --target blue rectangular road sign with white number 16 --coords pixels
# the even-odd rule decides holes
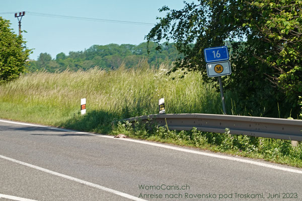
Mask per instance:
[[[229,60],[229,50],[226,46],[210,47],[203,50],[205,62]]]

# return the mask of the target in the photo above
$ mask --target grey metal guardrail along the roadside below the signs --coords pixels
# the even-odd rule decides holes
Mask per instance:
[[[199,131],[224,133],[225,128],[228,128],[231,134],[302,141],[302,120],[212,114],[165,114],[133,117],[121,121],[139,120],[153,121],[160,126],[167,123],[170,130],[188,131],[196,127]]]

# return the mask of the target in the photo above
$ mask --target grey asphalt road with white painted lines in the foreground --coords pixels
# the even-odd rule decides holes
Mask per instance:
[[[298,201],[301,189],[298,168],[0,120],[0,200]]]

